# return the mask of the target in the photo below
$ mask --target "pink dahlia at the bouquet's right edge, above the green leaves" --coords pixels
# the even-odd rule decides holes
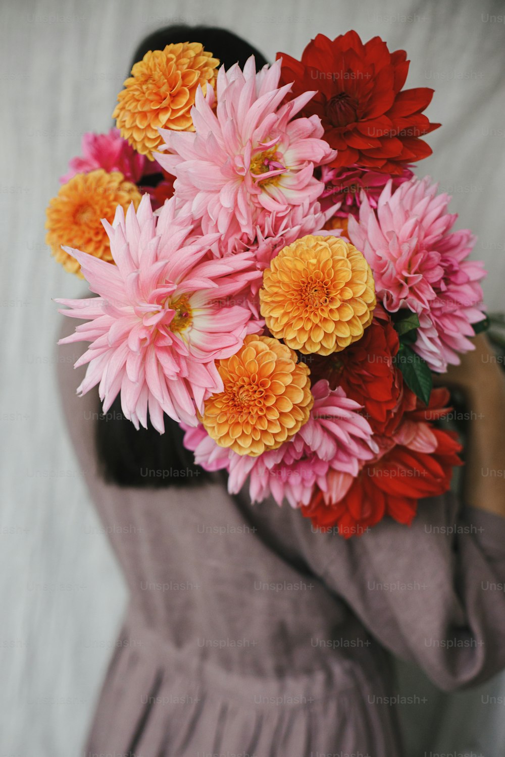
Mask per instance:
[[[394,192],[391,181],[374,210],[362,195],[359,222],[348,234],[373,270],[376,294],[386,310],[408,308],[419,316],[413,349],[432,370],[457,365],[458,353],[473,349],[472,323],[482,320],[482,263],[468,260],[475,238],[468,229],[451,232],[457,213],[450,197],[437,195],[430,179],[410,179]]]

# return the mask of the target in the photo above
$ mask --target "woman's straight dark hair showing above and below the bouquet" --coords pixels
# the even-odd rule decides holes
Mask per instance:
[[[142,40],[133,55],[132,65],[149,50],[163,50],[173,42],[201,42],[225,68],[237,63],[242,67],[254,55],[257,69],[267,63],[252,45],[236,34],[213,26],[166,26]],[[130,67],[131,68],[131,67]],[[156,185],[161,175],[146,177]],[[143,179],[144,183],[147,183]],[[123,416],[120,397],[106,414],[98,413],[95,447],[102,477],[111,484],[124,487],[161,488],[167,486],[198,486],[209,475],[196,466],[193,453],[182,444],[184,432],[168,416],[164,416],[165,433],[159,434],[148,422],[139,428]]]

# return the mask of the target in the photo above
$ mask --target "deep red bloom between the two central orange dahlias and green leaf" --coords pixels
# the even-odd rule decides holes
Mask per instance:
[[[327,378],[333,389],[341,386],[349,399],[360,403],[375,434],[391,435],[404,407],[404,382],[393,362],[399,346],[389,317],[374,317],[359,341],[316,360],[310,371]]]

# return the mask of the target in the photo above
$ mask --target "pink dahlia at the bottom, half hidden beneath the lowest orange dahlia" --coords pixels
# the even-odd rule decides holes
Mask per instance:
[[[206,470],[226,469],[228,490],[236,494],[250,476],[251,501],[270,494],[279,505],[308,504],[317,485],[326,491],[329,471],[356,476],[377,451],[372,429],[358,411],[360,405],[338,387],[331,391],[326,380],[317,382],[310,417],[291,441],[257,457],[238,455],[219,447],[203,426],[187,428],[184,445],[195,452],[195,463]],[[347,478],[346,478],[347,481]]]

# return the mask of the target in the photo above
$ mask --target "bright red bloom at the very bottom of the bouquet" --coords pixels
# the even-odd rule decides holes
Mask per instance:
[[[416,410],[405,413],[405,422],[426,424],[427,419],[443,416],[448,410],[444,408],[447,397],[447,390],[435,389],[430,407],[422,409],[418,402]],[[410,525],[417,512],[417,500],[444,494],[450,488],[453,467],[462,464],[457,455],[461,450],[457,435],[432,425],[429,431],[437,445],[434,452],[396,444],[363,467],[340,501],[326,503],[328,497],[317,489],[311,503],[301,507],[302,515],[323,531],[338,528],[345,538],[363,534],[386,515]]]

